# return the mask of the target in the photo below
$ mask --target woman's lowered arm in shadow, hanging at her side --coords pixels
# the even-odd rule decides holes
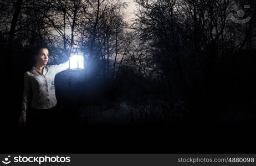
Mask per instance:
[[[29,75],[27,72],[24,74],[24,90],[23,90],[23,98],[22,98],[22,113],[21,117],[19,117],[19,122],[27,121],[27,108],[30,101],[30,92],[31,92],[31,84],[29,80]]]

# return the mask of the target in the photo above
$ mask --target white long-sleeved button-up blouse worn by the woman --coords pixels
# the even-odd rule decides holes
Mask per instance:
[[[35,67],[24,74],[22,113],[19,121],[25,122],[27,107],[49,109],[57,105],[54,79],[59,72],[69,69],[69,60],[59,65],[45,65],[43,74]]]

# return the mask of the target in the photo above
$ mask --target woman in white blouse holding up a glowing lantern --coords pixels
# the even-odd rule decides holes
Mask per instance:
[[[35,65],[24,74],[22,113],[18,127],[55,129],[58,125],[58,112],[54,78],[69,68],[69,60],[59,65],[47,65],[49,50],[45,46],[35,50],[34,58]]]

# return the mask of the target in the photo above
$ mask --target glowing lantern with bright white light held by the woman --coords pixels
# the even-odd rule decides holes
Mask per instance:
[[[84,54],[77,45],[73,45],[69,54],[69,69],[84,69]]]

